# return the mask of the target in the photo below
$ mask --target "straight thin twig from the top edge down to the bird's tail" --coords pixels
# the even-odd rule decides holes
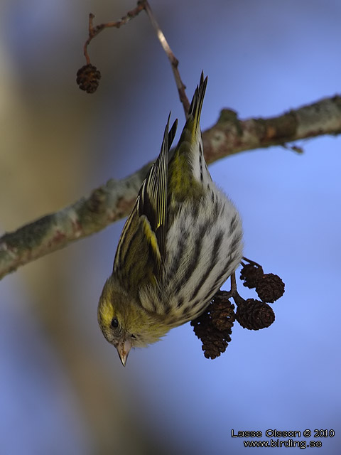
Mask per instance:
[[[166,52],[168,60],[171,63],[176,87],[178,87],[180,102],[183,105],[183,110],[185,111],[185,116],[187,117],[188,111],[190,109],[190,102],[188,101],[188,97],[185,92],[186,87],[183,84],[183,81],[181,80],[180,73],[178,70],[179,60],[175,58],[175,55],[173,54],[173,51],[171,50],[171,47],[166,40],[166,37],[163,35],[163,32],[161,31],[161,28],[158,25],[158,22],[156,21],[156,18],[153,14],[153,11],[151,10],[151,6],[148,4],[148,1],[144,0],[143,3],[146,14],[148,15],[148,18],[151,21],[151,25],[153,26],[153,29],[156,32],[156,36],[158,37],[158,41],[160,41],[163,50]]]

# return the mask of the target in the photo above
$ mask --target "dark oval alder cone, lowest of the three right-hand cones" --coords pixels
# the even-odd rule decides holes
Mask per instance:
[[[236,319],[249,330],[259,330],[271,326],[275,320],[274,310],[264,301],[248,299],[238,305]]]

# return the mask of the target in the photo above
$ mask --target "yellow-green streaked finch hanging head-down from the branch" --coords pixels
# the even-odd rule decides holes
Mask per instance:
[[[163,134],[126,220],[99,298],[104,337],[126,365],[131,348],[155,343],[207,308],[242,260],[242,220],[212,181],[203,154],[203,73],[175,149],[178,121]]]

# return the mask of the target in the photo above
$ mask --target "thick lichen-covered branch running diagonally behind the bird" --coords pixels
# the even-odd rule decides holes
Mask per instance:
[[[341,133],[341,97],[325,98],[312,105],[269,119],[239,120],[223,109],[217,123],[202,134],[207,164],[240,151],[324,134]],[[297,149],[293,147],[293,149]],[[74,240],[104,229],[128,215],[151,163],[121,181],[109,180],[68,207],[45,215],[0,238],[0,279],[18,267],[65,247]]]

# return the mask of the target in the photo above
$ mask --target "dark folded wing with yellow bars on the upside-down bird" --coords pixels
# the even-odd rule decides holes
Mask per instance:
[[[114,259],[114,272],[122,284],[131,284],[129,268],[134,264],[134,282],[153,282],[166,255],[168,151],[175,137],[169,119],[161,152],[142,183],[131,214],[121,232]]]

